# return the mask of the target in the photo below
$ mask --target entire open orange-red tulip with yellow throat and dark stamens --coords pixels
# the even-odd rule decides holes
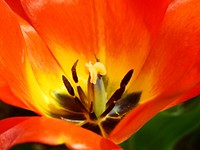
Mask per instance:
[[[199,0],[0,0],[0,149],[120,149],[200,93]]]

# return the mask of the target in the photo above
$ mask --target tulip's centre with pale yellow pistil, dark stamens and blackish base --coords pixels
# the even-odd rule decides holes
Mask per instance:
[[[65,110],[61,115],[56,114],[54,116],[76,123],[106,137],[139,102],[141,92],[129,94],[125,92],[126,86],[132,77],[133,69],[125,74],[119,88],[110,98],[107,98],[105,89],[107,82],[105,79],[108,77],[106,76],[105,66],[99,61],[94,64],[91,62],[86,63],[88,88],[87,93],[84,93],[78,84],[77,63],[78,60],[71,69],[73,80],[76,83],[76,91],[70,81],[63,75],[62,80],[70,96],[56,94]]]

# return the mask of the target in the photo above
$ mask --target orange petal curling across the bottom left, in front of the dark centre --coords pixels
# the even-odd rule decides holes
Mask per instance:
[[[46,117],[18,117],[0,121],[0,149],[24,142],[66,144],[70,149],[121,148],[91,131],[68,122]]]

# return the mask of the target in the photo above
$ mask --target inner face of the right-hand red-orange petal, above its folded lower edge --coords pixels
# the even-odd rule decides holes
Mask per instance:
[[[200,82],[200,2],[174,1],[159,36],[131,90],[143,91],[142,102],[174,96]]]

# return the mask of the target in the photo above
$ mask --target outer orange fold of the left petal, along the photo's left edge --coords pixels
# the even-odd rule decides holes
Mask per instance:
[[[32,98],[36,97],[30,92],[31,84],[27,81],[30,79],[27,78],[27,66],[29,65],[27,45],[24,43],[18,17],[3,1],[0,1],[0,8],[2,14],[0,16],[2,29],[0,31],[0,72],[5,82],[5,85],[1,85],[4,91],[1,98],[9,104],[38,112],[38,108],[35,108],[36,105],[32,101]],[[37,45],[39,43],[35,47]]]

